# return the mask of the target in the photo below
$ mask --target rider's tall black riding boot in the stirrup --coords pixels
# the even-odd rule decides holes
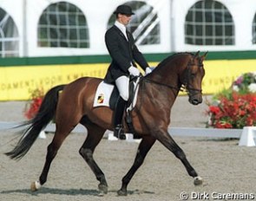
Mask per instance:
[[[114,136],[118,139],[126,139],[126,135],[124,133],[121,120],[123,116],[123,111],[126,106],[127,101],[123,100],[121,97],[117,100],[115,107],[115,115],[114,115]]]

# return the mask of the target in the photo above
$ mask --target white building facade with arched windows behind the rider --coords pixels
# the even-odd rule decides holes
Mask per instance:
[[[145,54],[256,50],[254,0],[0,0],[0,56],[105,55],[115,8]]]

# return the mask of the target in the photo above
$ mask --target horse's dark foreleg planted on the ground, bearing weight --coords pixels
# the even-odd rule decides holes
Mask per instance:
[[[117,191],[119,196],[127,195],[127,186],[130,180],[135,175],[135,172],[142,165],[148,151],[154,145],[155,139],[151,136],[143,137],[141,144],[138,147],[138,151],[135,157],[135,162],[132,167],[129,169],[128,173],[121,179],[121,189]]]

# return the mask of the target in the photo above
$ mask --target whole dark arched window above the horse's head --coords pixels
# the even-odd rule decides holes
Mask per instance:
[[[233,45],[233,17],[216,1],[195,3],[186,16],[185,42],[193,45]]]

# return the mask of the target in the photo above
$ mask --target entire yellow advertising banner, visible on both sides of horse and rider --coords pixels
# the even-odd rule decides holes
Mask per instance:
[[[150,66],[158,63],[151,62]],[[205,61],[203,94],[214,94],[229,88],[238,76],[256,72],[256,60]],[[47,65],[0,68],[0,100],[29,100],[31,91],[68,84],[82,76],[103,78],[107,63]],[[181,93],[183,94],[183,93]]]

